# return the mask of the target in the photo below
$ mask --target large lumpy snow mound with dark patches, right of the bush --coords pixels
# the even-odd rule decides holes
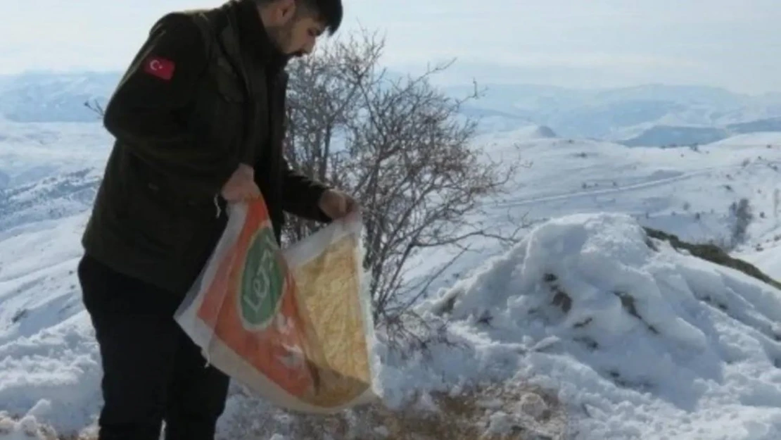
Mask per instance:
[[[781,292],[629,216],[548,221],[420,312],[469,349],[387,366],[391,394],[504,378],[555,390],[577,438],[781,438]]]

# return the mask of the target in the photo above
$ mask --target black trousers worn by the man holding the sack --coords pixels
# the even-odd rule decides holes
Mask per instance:
[[[229,378],[206,367],[173,320],[181,298],[105,267],[79,263],[84,306],[100,345],[99,440],[212,440]]]

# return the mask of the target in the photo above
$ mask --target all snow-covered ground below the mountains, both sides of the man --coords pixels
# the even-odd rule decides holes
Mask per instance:
[[[29,416],[0,421],[0,433],[9,435],[22,436],[34,420],[80,430],[94,424],[100,406],[97,346],[74,271],[89,208],[85,188],[109,139],[96,125],[95,138],[88,126],[63,138],[61,127],[38,126],[60,140],[37,145],[72,148],[73,156],[51,159],[35,142],[17,143],[24,131],[9,129],[0,139],[0,158],[26,164],[5,171],[14,183],[0,193],[0,412]],[[774,195],[781,135],[730,138],[698,151],[522,133],[480,141],[495,157],[532,163],[483,220],[508,227],[508,213],[528,213],[534,227],[505,254],[490,246],[467,254],[419,307],[433,323],[449,320],[455,347],[435,345],[433,356],[412,360],[377,348],[389,406],[414,392],[492,379],[551,391],[565,405],[569,433],[583,440],[781,438],[781,292],[647,241],[640,227],[724,238],[729,205],[747,198],[755,218],[736,255],[781,277],[774,239],[781,233]],[[26,145],[31,156],[14,145]],[[36,176],[54,180],[20,179],[17,170],[40,161],[62,166]],[[79,184],[62,179],[79,170],[86,170],[73,177]],[[57,191],[42,191],[53,181]],[[11,204],[12,212],[2,209]],[[45,220],[40,205],[56,220]],[[421,256],[421,272],[442,258]],[[246,398],[232,398],[224,436],[247,407]],[[490,431],[521,423],[522,414],[496,405],[487,413]],[[274,426],[286,435],[283,423]]]

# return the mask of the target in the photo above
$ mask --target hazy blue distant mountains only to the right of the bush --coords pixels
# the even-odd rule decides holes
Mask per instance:
[[[781,116],[778,94],[740,95],[720,88],[662,84],[607,90],[525,84],[483,84],[481,88],[483,96],[469,102],[465,113],[490,120],[491,127],[501,127],[498,121],[507,127],[542,124],[562,137],[612,141],[637,138],[645,131],[655,134],[634,141],[635,145],[690,145],[720,140],[730,133],[778,131],[777,123],[766,120]],[[446,90],[463,96],[473,91],[473,85]],[[707,138],[694,133],[682,138],[672,132],[686,128],[726,129],[727,134]]]

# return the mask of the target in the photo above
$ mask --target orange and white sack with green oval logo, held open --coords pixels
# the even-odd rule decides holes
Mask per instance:
[[[262,199],[230,206],[226,230],[175,319],[213,366],[276,406],[333,413],[375,401],[361,218],[289,249]]]

